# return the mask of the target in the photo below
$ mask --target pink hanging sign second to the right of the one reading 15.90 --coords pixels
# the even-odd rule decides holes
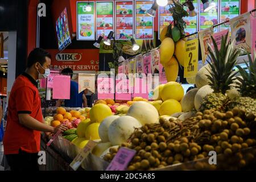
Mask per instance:
[[[148,99],[147,78],[135,78],[133,97]]]

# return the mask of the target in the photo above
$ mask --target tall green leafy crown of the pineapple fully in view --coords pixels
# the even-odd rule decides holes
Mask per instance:
[[[220,50],[212,36],[211,38],[214,48],[208,43],[210,61],[207,60],[207,62],[211,70],[207,69],[209,72],[207,77],[214,93],[225,94],[226,90],[230,89],[230,84],[233,84],[236,79],[234,76],[237,72],[233,72],[233,68],[240,51],[234,49],[233,43],[228,42],[228,34],[222,36]]]

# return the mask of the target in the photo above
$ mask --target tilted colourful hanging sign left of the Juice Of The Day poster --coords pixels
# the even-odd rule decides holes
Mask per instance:
[[[69,44],[71,44],[71,37],[68,27],[68,14],[67,8],[65,8],[59,18],[55,23],[56,34],[58,39],[59,51],[65,49]]]

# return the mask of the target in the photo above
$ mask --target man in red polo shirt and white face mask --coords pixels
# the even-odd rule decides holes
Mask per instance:
[[[44,123],[36,80],[49,75],[50,65],[51,55],[44,49],[35,48],[28,55],[26,71],[16,78],[11,89],[3,138],[4,153],[11,170],[39,170],[41,131],[67,130],[65,125],[52,127]]]

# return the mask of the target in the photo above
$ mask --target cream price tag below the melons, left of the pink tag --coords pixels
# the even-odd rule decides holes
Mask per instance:
[[[82,164],[84,159],[89,155],[90,151],[92,151],[93,147],[96,146],[97,142],[94,142],[93,140],[89,140],[89,142],[86,144],[84,148],[82,148],[80,154],[78,154],[75,159],[72,161],[69,166],[76,171],[79,166]]]

